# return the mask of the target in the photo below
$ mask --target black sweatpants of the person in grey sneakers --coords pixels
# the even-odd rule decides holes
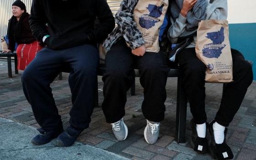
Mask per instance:
[[[165,85],[169,69],[165,54],[146,52],[138,57],[131,53],[122,38],[114,44],[105,59],[102,109],[107,123],[115,123],[125,115],[127,91],[133,82],[133,69],[138,68],[144,88],[142,112],[149,121],[160,122],[165,116]]]

